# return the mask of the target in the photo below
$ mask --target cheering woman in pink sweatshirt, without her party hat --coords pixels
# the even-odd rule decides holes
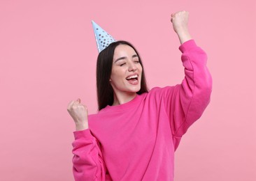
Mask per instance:
[[[148,92],[141,58],[128,42],[113,42],[99,54],[99,112],[87,116],[80,99],[68,106],[76,123],[75,180],[173,180],[174,151],[210,102],[212,84],[187,21],[185,11],[171,15],[183,53],[182,84]]]

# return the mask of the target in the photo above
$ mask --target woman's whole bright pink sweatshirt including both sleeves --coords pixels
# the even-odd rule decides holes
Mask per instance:
[[[182,84],[153,88],[134,100],[89,116],[74,132],[75,180],[173,180],[174,151],[210,102],[207,56],[194,40],[179,47]]]

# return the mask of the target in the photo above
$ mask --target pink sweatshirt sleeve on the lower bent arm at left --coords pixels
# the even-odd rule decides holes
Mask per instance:
[[[102,159],[99,141],[90,129],[73,132],[73,175],[76,181],[106,180],[106,166]]]

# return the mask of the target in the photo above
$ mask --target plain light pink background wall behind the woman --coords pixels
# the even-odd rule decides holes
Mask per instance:
[[[177,181],[256,180],[255,1],[0,1],[0,180],[73,180],[78,97],[97,111],[91,19],[141,53],[150,88],[183,79],[171,13],[190,12],[211,104],[176,152]]]

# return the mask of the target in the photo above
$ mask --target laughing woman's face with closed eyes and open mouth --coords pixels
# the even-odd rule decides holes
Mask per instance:
[[[140,91],[141,73],[141,63],[134,49],[129,45],[118,45],[113,56],[110,79],[115,95]]]

